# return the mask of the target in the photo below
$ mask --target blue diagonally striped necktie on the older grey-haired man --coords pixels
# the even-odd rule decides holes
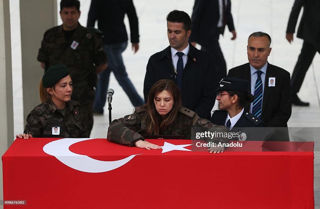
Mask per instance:
[[[258,78],[256,81],[256,85],[254,87],[254,101],[252,105],[252,114],[256,117],[261,118],[261,110],[262,110],[262,80],[261,80],[261,74],[262,71],[257,71]]]

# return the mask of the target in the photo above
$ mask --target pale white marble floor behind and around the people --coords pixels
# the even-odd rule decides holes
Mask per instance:
[[[248,62],[246,45],[248,36],[255,31],[268,33],[272,38],[272,51],[268,61],[276,66],[286,69],[290,73],[296,63],[302,40],[294,37],[294,42],[289,44],[285,39],[286,25],[294,0],[233,0],[232,14],[237,32],[237,38],[231,41],[231,33],[225,31],[220,36],[220,46],[227,62],[227,68]],[[86,25],[90,0],[80,0],[82,11],[80,24]],[[143,96],[143,81],[149,57],[169,45],[166,32],[166,15],[174,10],[183,10],[190,16],[193,0],[134,0],[139,18],[140,49],[134,54],[130,44],[123,53],[124,63],[138,93]],[[59,5],[59,1],[58,1]],[[59,9],[58,9],[59,10]],[[302,13],[302,12],[301,12]],[[20,43],[20,8],[19,0],[10,0],[11,36],[12,36],[12,77],[14,104],[14,132],[20,133],[24,129],[22,109],[22,82],[21,82],[21,43]],[[59,15],[58,15],[59,17]],[[129,24],[125,19],[127,29]],[[61,23],[59,18],[58,23]],[[39,42],[40,47],[40,42]],[[199,46],[198,46],[199,47]],[[36,59],[35,59],[36,61]],[[309,101],[309,107],[292,107],[292,116],[288,122],[290,127],[320,127],[320,100],[319,85],[320,56],[316,54],[304,83],[299,92],[301,100]],[[195,81],[200,82],[200,81]],[[20,85],[19,85],[20,84]],[[130,114],[134,107],[127,95],[111,75],[109,88],[114,89],[112,101],[112,119]],[[106,138],[109,125],[108,107],[103,116],[94,116],[94,126],[91,133],[93,138]],[[13,136],[14,137],[14,136]],[[314,190],[316,208],[320,208],[320,149],[319,141],[315,141],[314,164]]]

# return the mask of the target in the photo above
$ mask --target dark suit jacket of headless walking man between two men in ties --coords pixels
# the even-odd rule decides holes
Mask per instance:
[[[229,31],[232,31],[235,26],[231,14],[231,1],[227,2],[227,25]],[[195,41],[201,45],[210,42],[213,36],[219,36],[220,31],[217,29],[219,18],[218,0],[196,0],[191,16],[192,33],[189,41]]]

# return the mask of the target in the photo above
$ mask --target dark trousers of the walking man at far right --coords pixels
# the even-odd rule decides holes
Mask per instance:
[[[320,42],[316,44],[311,44],[306,41],[303,42],[301,53],[291,76],[292,94],[299,92],[303,79],[317,51],[320,53]]]

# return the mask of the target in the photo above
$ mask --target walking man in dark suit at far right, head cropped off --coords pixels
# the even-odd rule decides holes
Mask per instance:
[[[309,106],[309,102],[299,99],[297,93],[300,90],[303,79],[316,54],[320,53],[320,1],[319,0],[295,0],[290,13],[286,39],[291,43],[297,24],[298,16],[303,6],[303,14],[298,28],[297,37],[303,39],[301,53],[291,77],[292,104]]]

